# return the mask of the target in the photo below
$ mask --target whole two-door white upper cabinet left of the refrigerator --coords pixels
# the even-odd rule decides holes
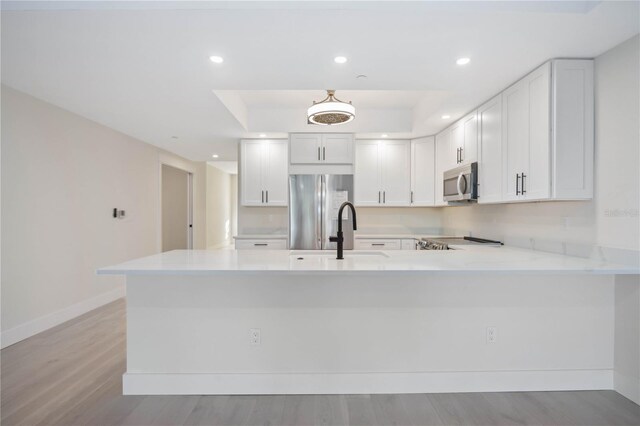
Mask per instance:
[[[287,141],[240,141],[243,206],[287,205]]]

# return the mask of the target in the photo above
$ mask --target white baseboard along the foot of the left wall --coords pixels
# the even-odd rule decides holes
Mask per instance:
[[[68,306],[49,315],[33,319],[24,324],[20,324],[17,327],[3,331],[2,334],[0,334],[0,346],[4,349],[7,346],[11,346],[21,340],[35,336],[38,333],[62,324],[65,321],[69,321],[70,319],[87,313],[102,305],[106,305],[107,303],[120,299],[124,297],[125,294],[125,287],[121,286],[107,293],[100,294],[96,297],[92,297],[91,299],[83,300],[75,305]]]

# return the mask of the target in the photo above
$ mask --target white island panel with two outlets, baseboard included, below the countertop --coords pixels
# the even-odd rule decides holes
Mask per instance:
[[[129,276],[124,390],[610,389],[613,339],[612,276]]]

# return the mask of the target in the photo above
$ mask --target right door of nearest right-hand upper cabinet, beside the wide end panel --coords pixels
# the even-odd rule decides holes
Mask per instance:
[[[544,200],[551,196],[551,64],[544,64],[529,74],[525,81],[529,92],[529,144],[528,164],[523,170],[524,197],[527,200]]]

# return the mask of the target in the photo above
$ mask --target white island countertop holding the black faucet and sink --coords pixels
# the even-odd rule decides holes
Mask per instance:
[[[512,247],[457,250],[174,250],[100,268],[100,275],[228,274],[640,274],[637,267]],[[298,259],[298,258],[302,259]]]

